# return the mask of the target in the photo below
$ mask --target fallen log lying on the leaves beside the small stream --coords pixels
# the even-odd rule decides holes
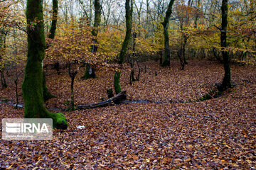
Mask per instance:
[[[93,104],[87,104],[87,105],[78,105],[78,109],[87,109],[87,108],[100,108],[100,107],[106,107],[106,106],[112,106],[114,104],[119,104],[122,101],[124,101],[127,98],[126,91],[121,91],[116,96],[107,99],[107,101],[102,101],[100,103],[93,103]]]

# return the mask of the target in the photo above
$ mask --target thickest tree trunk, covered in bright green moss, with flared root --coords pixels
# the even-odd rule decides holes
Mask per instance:
[[[46,40],[43,29],[43,1],[27,0],[28,60],[22,84],[24,118],[52,118],[53,128],[68,127],[62,113],[50,113],[43,103],[43,58]]]

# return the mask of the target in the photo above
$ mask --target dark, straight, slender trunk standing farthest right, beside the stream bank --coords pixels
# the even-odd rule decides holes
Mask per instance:
[[[222,47],[223,63],[225,69],[225,75],[222,82],[221,90],[225,90],[231,87],[231,71],[230,71],[230,57],[225,47],[227,45],[227,27],[228,27],[228,0],[222,1],[221,6],[221,34],[220,34],[220,45]]]

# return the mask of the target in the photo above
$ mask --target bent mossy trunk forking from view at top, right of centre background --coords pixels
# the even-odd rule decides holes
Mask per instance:
[[[162,25],[164,26],[164,62],[162,64],[163,67],[170,66],[170,60],[171,60],[171,52],[169,47],[169,33],[168,33],[168,27],[169,27],[169,20],[172,13],[172,6],[174,5],[174,0],[171,0],[169,2],[166,16],[164,18],[164,22]]]

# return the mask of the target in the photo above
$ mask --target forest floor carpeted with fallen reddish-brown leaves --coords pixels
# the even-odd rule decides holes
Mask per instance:
[[[183,71],[178,62],[167,68],[146,65],[132,85],[130,68],[122,69],[121,86],[129,100],[154,102],[63,111],[68,130],[53,130],[53,140],[1,140],[0,169],[256,169],[255,67],[233,64],[236,86],[218,98],[197,101],[222,81],[222,64],[188,61]],[[57,98],[46,106],[65,109],[68,73],[48,70],[48,89]],[[75,79],[75,104],[107,99],[114,70],[99,67],[96,79],[81,80],[83,72]],[[9,87],[0,90],[0,101],[10,102],[0,103],[0,119],[23,118],[23,108],[10,105],[16,98],[13,77],[6,79]]]

